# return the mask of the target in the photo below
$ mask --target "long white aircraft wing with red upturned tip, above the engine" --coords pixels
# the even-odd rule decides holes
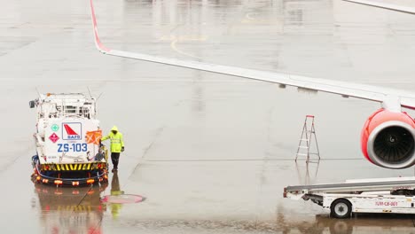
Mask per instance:
[[[98,36],[97,19],[95,16],[95,10],[93,7],[93,0],[90,0],[90,11],[92,17],[92,24],[94,29],[95,45],[98,51],[117,57],[134,58],[138,60],[144,60],[154,63],[161,63],[171,66],[182,66],[186,68],[196,69],[200,71],[206,71],[216,74],[228,74],[238,76],[242,78],[262,81],[273,82],[294,86],[303,90],[323,91],[333,94],[341,95],[342,97],[354,97],[362,98],[366,100],[376,101],[380,103],[388,102],[389,99],[398,100],[403,107],[411,108],[415,110],[415,92],[408,92],[404,90],[393,90],[388,88],[381,88],[376,86],[350,83],[350,82],[338,82],[325,79],[310,78],[306,76],[293,75],[293,74],[279,74],[274,72],[253,70],[247,68],[241,68],[236,66],[223,66],[210,64],[205,62],[198,62],[192,60],[182,60],[176,58],[162,58],[152,56],[143,53],[133,53],[129,51],[117,51],[112,50],[104,46],[101,43]]]

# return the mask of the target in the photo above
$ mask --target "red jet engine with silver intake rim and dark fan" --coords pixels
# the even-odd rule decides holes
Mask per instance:
[[[362,152],[383,168],[409,168],[415,164],[415,121],[407,113],[380,109],[364,123]]]

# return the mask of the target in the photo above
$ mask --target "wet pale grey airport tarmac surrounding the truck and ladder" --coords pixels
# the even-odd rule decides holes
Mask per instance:
[[[114,49],[415,90],[413,15],[337,0],[95,4]],[[101,55],[88,1],[0,5],[2,233],[415,233],[412,216],[335,220],[282,198],[286,185],[414,175],[363,160],[360,129],[378,104]],[[35,186],[27,102],[36,90],[87,87],[102,94],[103,129],[124,134],[118,177],[92,189]],[[309,168],[294,163],[306,114],[322,157]],[[146,199],[100,202],[112,192]]]

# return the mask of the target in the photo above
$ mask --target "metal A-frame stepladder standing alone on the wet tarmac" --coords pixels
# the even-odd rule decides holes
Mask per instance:
[[[313,139],[316,142],[317,152],[309,152],[311,141]],[[309,163],[309,155],[317,155],[318,160],[320,160],[320,151],[318,150],[316,129],[314,128],[314,115],[308,114],[306,115],[304,126],[302,127],[300,143],[298,144],[297,153],[295,154],[295,161],[297,161],[298,156],[304,156],[306,157],[306,162]]]

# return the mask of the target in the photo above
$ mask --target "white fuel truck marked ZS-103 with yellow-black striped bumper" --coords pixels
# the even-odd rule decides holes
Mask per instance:
[[[99,143],[102,131],[96,99],[81,93],[39,94],[29,102],[36,110],[35,183],[82,186],[107,183],[107,150]]]

